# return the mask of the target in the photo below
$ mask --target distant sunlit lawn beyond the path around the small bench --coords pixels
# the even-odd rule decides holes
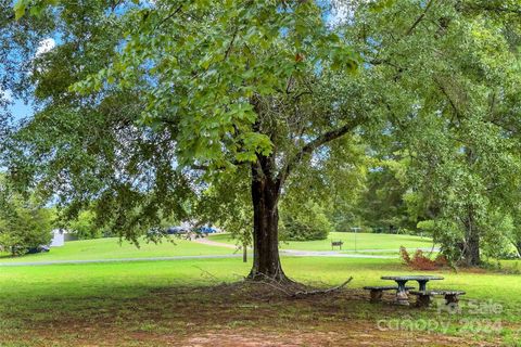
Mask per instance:
[[[393,249],[396,253],[399,246],[405,246],[409,250],[416,248],[431,248],[432,240],[429,237],[420,237],[412,235],[396,235],[396,234],[376,234],[376,233],[353,233],[353,232],[331,232],[326,240],[319,241],[290,241],[281,242],[282,249],[300,249],[300,250],[331,250],[331,240],[342,240],[344,245],[343,250],[353,252],[356,249]],[[236,244],[234,240],[230,239],[229,234],[211,235],[209,240],[216,242],[224,242]],[[335,247],[335,249],[339,249]]]

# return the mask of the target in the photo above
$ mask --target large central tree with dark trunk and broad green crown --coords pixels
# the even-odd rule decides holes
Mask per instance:
[[[319,147],[323,160],[325,145],[369,117],[359,78],[346,78],[357,57],[322,9],[63,1],[53,11],[61,43],[33,72],[43,106],[17,134],[14,176],[38,174],[38,185],[73,209],[96,198],[136,240],[158,214],[188,213],[178,202],[203,182],[247,166],[251,278],[285,280],[278,203],[290,172],[315,165]]]

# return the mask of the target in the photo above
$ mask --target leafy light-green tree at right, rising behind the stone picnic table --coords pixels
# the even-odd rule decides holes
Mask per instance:
[[[377,11],[357,5],[363,25],[348,33],[385,88],[391,121],[379,140],[409,157],[408,184],[432,202],[439,241],[478,265],[485,230],[518,185],[519,3],[391,1]]]

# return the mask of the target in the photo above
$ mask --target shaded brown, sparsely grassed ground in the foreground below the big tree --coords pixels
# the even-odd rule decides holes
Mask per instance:
[[[223,284],[173,287],[147,296],[86,299],[77,311],[24,322],[9,343],[28,346],[497,346],[494,338],[435,332],[380,330],[381,319],[421,317],[424,311],[367,303],[367,293],[290,298],[272,286]],[[37,337],[35,337],[37,336]]]

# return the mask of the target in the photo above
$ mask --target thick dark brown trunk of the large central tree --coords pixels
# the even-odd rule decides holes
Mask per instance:
[[[253,267],[252,280],[288,281],[279,257],[279,184],[270,172],[269,158],[252,166]]]

